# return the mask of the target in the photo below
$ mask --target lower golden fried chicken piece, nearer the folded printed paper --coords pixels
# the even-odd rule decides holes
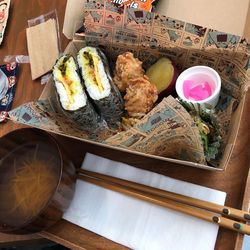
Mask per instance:
[[[130,117],[141,118],[153,108],[157,98],[157,88],[147,76],[132,79],[124,96],[125,110]]]

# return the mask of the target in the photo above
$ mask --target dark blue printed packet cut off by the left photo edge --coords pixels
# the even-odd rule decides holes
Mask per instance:
[[[5,121],[11,110],[17,85],[18,64],[0,65],[0,123]]]

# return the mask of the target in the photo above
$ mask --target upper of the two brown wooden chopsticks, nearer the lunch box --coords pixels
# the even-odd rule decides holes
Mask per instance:
[[[78,172],[85,174],[85,175],[88,175],[88,176],[95,177],[95,178],[100,178],[100,179],[103,179],[103,180],[106,180],[109,182],[113,182],[113,183],[121,184],[124,186],[132,187],[132,188],[135,188],[138,190],[142,190],[142,191],[148,192],[150,194],[155,194],[158,196],[166,197],[168,199],[171,199],[173,201],[177,201],[177,202],[180,202],[183,204],[206,209],[206,210],[218,213],[218,214],[223,214],[224,216],[226,216],[228,218],[234,218],[234,219],[238,219],[238,220],[246,221],[246,222],[250,220],[250,214],[247,211],[218,205],[218,204],[215,204],[213,202],[199,200],[199,199],[188,197],[185,195],[176,194],[176,193],[169,192],[166,190],[162,190],[162,189],[158,189],[158,188],[154,188],[154,187],[149,187],[149,186],[146,186],[143,184],[115,178],[112,176],[108,176],[108,175],[104,175],[104,174],[100,174],[100,173],[96,173],[96,172],[91,172],[91,171],[84,170],[84,169],[79,169]]]

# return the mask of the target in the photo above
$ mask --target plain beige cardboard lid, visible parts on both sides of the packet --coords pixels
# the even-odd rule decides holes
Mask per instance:
[[[73,38],[77,23],[82,24],[86,0],[68,0],[63,33]],[[160,0],[156,12],[218,31],[250,38],[250,1],[241,0]]]

